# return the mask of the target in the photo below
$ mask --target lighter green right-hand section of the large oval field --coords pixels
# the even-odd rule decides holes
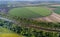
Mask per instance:
[[[40,14],[41,16],[47,16],[51,13],[51,10],[46,7],[26,7],[27,9]]]

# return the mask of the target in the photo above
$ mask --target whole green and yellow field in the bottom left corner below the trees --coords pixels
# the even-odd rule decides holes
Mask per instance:
[[[0,27],[0,37],[23,37],[22,35],[18,35],[14,32],[12,32],[9,29]]]

